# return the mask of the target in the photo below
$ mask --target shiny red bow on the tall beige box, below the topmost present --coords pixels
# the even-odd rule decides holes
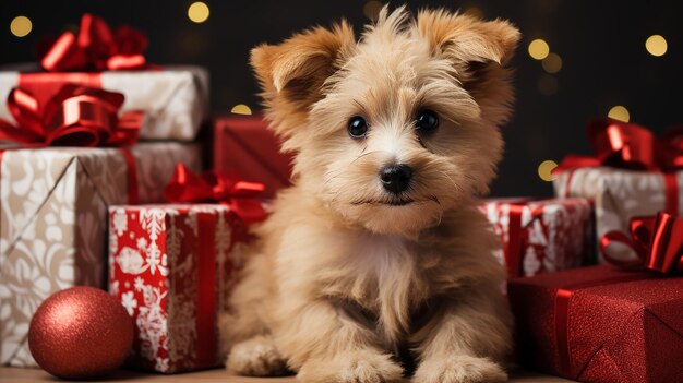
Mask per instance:
[[[119,118],[123,95],[67,84],[47,105],[28,92],[14,88],[8,109],[16,127],[0,119],[0,140],[28,146],[129,146],[137,141],[141,112]]]

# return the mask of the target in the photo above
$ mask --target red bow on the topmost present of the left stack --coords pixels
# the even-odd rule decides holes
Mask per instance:
[[[119,26],[111,32],[103,19],[85,13],[79,35],[64,32],[41,64],[49,72],[141,69],[146,48],[147,39],[139,31]]]

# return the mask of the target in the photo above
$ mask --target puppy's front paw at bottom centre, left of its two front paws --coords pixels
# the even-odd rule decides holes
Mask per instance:
[[[299,370],[302,383],[391,383],[403,369],[388,355],[370,350],[344,351],[331,359],[309,360]]]

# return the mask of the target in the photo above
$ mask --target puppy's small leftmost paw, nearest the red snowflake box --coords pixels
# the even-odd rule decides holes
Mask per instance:
[[[289,373],[287,361],[266,336],[255,336],[232,347],[226,361],[228,371],[251,376],[278,376]]]

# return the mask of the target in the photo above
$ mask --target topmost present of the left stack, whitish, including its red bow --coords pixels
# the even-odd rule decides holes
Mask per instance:
[[[69,83],[119,92],[125,96],[121,112],[144,111],[141,139],[192,141],[208,115],[208,75],[197,67],[148,65],[145,47],[136,31],[111,31],[86,14],[77,36],[64,33],[44,56],[45,71],[25,65],[0,71],[0,99],[20,87],[45,105]],[[13,120],[4,105],[0,119]]]

